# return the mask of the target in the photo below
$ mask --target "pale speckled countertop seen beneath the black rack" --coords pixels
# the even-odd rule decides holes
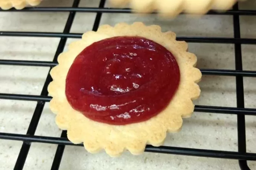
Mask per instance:
[[[99,0],[81,0],[80,6],[97,7]],[[72,0],[48,0],[40,6],[71,6]],[[256,1],[240,4],[241,9],[256,9]],[[91,30],[94,13],[77,13],[72,33]],[[1,31],[50,31],[62,32],[68,13],[0,13]],[[185,15],[174,20],[162,20],[157,16],[134,14],[103,14],[101,24],[121,21],[158,24],[164,31],[172,30],[181,35],[209,37],[233,37],[232,16],[204,16],[190,18]],[[241,16],[242,38],[256,38],[256,17]],[[0,59],[51,61],[60,38],[0,37]],[[66,45],[75,39],[69,38]],[[199,68],[234,69],[234,45],[189,43],[189,51],[198,57]],[[242,45],[244,70],[255,70],[255,45]],[[45,82],[47,67],[0,65],[0,93],[40,95]],[[256,78],[244,78],[246,108],[256,108]],[[200,82],[201,97],[195,104],[236,107],[234,77],[203,76]],[[0,132],[25,134],[36,102],[0,99]],[[55,115],[46,104],[36,135],[59,137],[61,130],[55,125]],[[256,153],[256,116],[246,116],[247,152]],[[0,140],[0,170],[14,167],[22,142]],[[237,151],[236,115],[195,112],[185,119],[179,133],[169,134],[165,145]],[[50,169],[56,145],[33,143],[24,170]],[[256,162],[249,162],[252,170]],[[105,153],[89,154],[83,147],[66,146],[60,170],[239,170],[236,160],[144,153],[132,156],[124,153],[111,158]]]

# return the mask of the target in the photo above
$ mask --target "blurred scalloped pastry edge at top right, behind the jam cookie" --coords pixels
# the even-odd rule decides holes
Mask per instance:
[[[158,11],[161,16],[174,17],[181,12],[205,14],[210,9],[229,10],[237,1],[245,0],[110,0],[115,7],[124,7],[129,3],[138,13]]]

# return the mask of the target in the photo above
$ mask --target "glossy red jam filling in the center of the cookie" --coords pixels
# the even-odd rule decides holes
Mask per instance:
[[[180,70],[170,51],[142,37],[86,47],[66,77],[66,97],[87,118],[112,125],[142,122],[170,103]]]

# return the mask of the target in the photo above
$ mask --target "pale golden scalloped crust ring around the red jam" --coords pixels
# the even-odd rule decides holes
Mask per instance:
[[[87,46],[96,41],[116,36],[140,36],[155,41],[171,51],[180,68],[180,84],[170,104],[153,118],[128,125],[109,125],[95,122],[74,110],[65,95],[65,79],[76,56]],[[182,126],[182,118],[191,116],[194,105],[191,100],[200,95],[196,84],[201,79],[201,72],[195,68],[196,55],[187,52],[187,43],[176,41],[175,33],[161,32],[160,26],[145,26],[135,22],[116,24],[114,27],[103,25],[98,31],[88,31],[82,39],[69,45],[68,51],[58,57],[56,67],[50,75],[53,81],[48,86],[52,100],[50,109],[57,114],[56,124],[67,130],[68,139],[75,144],[82,143],[90,153],[105,149],[112,157],[119,156],[124,149],[132,154],[144,152],[146,144],[160,146],[164,143],[166,133],[177,132]]]

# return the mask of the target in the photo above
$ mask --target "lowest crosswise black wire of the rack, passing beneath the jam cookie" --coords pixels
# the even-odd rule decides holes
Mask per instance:
[[[83,144],[75,145],[66,138],[66,133],[63,132],[63,137],[49,137],[49,136],[35,136],[35,135],[21,135],[13,133],[0,133],[1,139],[7,140],[24,140],[27,143],[29,142],[38,142],[38,143],[49,143],[57,144],[59,146],[83,146]],[[64,149],[64,148],[63,148]],[[60,149],[57,148],[57,152],[60,152]],[[58,154],[56,152],[56,154]],[[206,150],[206,149],[193,149],[193,148],[184,148],[184,147],[171,147],[171,146],[161,146],[154,147],[147,145],[145,152],[155,152],[155,153],[165,153],[165,154],[180,154],[187,156],[201,156],[201,157],[214,157],[214,158],[223,158],[223,159],[240,159],[240,160],[256,160],[255,153],[239,153],[239,152],[230,152],[223,150]],[[56,157],[56,156],[55,156]],[[59,157],[59,156],[58,156]],[[55,162],[55,161],[53,161]]]

